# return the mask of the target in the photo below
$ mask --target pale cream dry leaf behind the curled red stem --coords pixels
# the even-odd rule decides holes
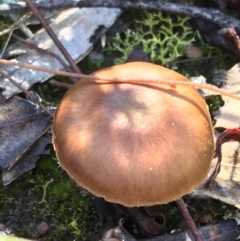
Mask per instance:
[[[224,90],[232,94],[240,94],[240,64],[228,71],[218,71],[214,82],[222,84]],[[219,128],[233,129],[240,127],[240,101],[221,96],[224,105],[214,112],[216,119],[215,134]],[[221,170],[212,182],[206,195],[240,208],[240,144],[227,142],[222,145]]]

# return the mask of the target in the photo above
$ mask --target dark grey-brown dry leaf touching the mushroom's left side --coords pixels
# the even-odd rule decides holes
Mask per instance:
[[[35,143],[51,119],[29,101],[14,96],[0,105],[0,169],[9,168]]]

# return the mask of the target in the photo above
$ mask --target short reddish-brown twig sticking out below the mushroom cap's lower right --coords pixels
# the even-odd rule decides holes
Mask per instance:
[[[195,224],[195,222],[193,221],[185,202],[183,201],[182,198],[176,200],[176,203],[180,209],[180,211],[182,212],[183,217],[185,218],[189,229],[191,230],[193,237],[196,241],[203,241],[201,234],[199,233],[197,226]]]

